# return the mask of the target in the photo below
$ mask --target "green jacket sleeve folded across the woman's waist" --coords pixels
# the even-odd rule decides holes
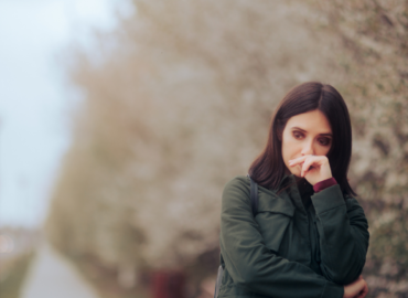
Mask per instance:
[[[268,249],[251,214],[245,179],[235,178],[224,188],[219,243],[226,269],[238,287],[280,298],[344,295],[343,286]]]

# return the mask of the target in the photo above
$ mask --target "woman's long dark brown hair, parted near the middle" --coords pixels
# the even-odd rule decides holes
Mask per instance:
[[[344,194],[357,195],[347,181],[352,157],[352,126],[348,109],[343,97],[333,86],[320,82],[303,83],[283,97],[270,121],[265,149],[254,160],[248,173],[261,187],[279,188],[286,171],[281,142],[286,124],[296,115],[315,109],[323,113],[332,128],[332,147],[328,153],[332,174]]]

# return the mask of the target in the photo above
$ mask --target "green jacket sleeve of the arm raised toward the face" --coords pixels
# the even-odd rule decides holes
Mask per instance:
[[[339,184],[312,195],[320,237],[321,269],[336,284],[347,285],[361,275],[368,249],[368,222],[352,196]]]

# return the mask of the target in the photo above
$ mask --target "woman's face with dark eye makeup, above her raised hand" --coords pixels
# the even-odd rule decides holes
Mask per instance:
[[[307,155],[326,156],[332,138],[330,123],[319,109],[291,117],[282,134],[282,158],[287,173],[300,177],[302,164],[289,167],[289,160]]]

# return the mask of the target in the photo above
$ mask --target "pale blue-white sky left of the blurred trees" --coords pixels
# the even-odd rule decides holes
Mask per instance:
[[[40,226],[80,96],[61,56],[112,30],[128,0],[0,0],[0,226]],[[60,57],[60,58],[58,58]]]

